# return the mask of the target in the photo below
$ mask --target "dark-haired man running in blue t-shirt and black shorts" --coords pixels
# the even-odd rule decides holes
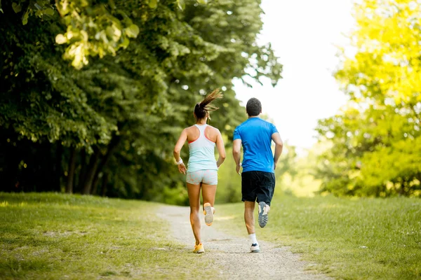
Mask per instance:
[[[274,195],[276,162],[282,153],[283,143],[275,125],[262,120],[262,104],[256,98],[248,100],[246,105],[248,120],[234,130],[232,155],[236,163],[236,172],[241,173],[241,194],[244,202],[244,221],[251,241],[250,251],[260,252],[255,235],[254,209],[258,202],[259,225],[264,228]],[[272,140],[275,153],[272,153]],[[243,163],[241,165],[241,145],[243,146]]]

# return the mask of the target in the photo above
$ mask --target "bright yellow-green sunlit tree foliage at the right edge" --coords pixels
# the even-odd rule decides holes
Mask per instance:
[[[317,131],[323,190],[336,195],[421,196],[421,39],[412,1],[362,1],[355,7],[356,54],[342,52],[335,78],[349,104]]]

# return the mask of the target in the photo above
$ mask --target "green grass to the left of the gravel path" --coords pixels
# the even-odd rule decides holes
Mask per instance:
[[[158,207],[0,193],[0,279],[187,278],[201,267],[202,256],[168,241],[166,223],[152,214]]]

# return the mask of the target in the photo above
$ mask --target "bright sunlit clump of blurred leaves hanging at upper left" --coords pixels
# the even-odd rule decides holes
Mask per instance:
[[[67,29],[64,34],[55,36],[55,42],[69,45],[63,57],[71,59],[76,69],[88,64],[89,56],[116,55],[116,51],[127,48],[130,38],[136,38],[140,31],[129,13],[114,1],[95,2],[58,1],[58,13]]]

